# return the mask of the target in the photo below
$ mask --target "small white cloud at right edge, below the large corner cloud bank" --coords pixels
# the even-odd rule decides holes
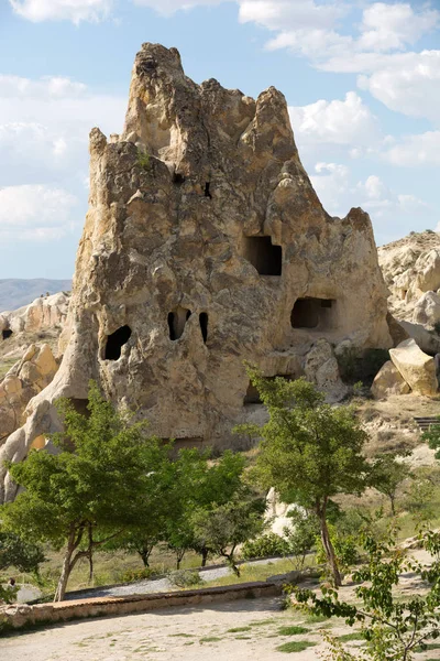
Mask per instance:
[[[407,136],[383,156],[393,165],[440,165],[440,131]]]

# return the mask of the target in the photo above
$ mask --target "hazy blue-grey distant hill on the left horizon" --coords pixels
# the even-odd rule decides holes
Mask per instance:
[[[72,280],[46,280],[45,278],[0,280],[0,312],[28,305],[46,292],[56,294],[62,291],[70,291],[70,289]]]

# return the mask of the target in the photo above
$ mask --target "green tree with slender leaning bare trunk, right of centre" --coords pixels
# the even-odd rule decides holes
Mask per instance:
[[[350,407],[330,407],[305,379],[268,380],[249,368],[270,419],[263,426],[241,425],[239,433],[261,437],[256,479],[275,487],[284,502],[295,502],[318,517],[326,557],[336,585],[338,561],[328,530],[331,498],[360,495],[369,465],[362,455],[366,433]]]

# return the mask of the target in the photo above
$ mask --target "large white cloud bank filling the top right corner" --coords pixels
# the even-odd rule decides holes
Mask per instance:
[[[392,110],[439,121],[440,51],[404,52],[440,25],[437,9],[374,2],[365,7],[359,25],[352,25],[352,34],[346,34],[339,23],[353,2],[239,2],[241,21],[276,33],[268,48],[289,48],[326,72],[363,74],[360,86]]]

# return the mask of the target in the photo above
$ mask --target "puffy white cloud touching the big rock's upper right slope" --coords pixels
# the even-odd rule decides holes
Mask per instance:
[[[299,145],[371,144],[378,136],[376,118],[355,91],[343,100],[320,99],[309,106],[289,108],[292,126]]]

